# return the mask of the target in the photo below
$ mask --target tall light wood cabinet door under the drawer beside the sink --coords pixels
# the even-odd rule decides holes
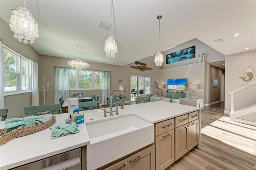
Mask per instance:
[[[164,170],[174,162],[174,129],[155,137],[156,170]]]

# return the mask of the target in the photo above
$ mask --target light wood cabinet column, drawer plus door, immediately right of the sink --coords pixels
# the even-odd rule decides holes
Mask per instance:
[[[174,118],[155,124],[156,168],[164,170],[174,162]]]

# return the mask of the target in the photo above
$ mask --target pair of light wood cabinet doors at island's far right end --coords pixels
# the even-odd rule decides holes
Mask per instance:
[[[199,121],[175,128],[175,161],[199,144]]]

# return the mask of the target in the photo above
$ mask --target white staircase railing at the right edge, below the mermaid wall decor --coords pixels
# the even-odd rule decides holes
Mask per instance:
[[[236,89],[231,94],[231,113],[256,105],[256,81]]]

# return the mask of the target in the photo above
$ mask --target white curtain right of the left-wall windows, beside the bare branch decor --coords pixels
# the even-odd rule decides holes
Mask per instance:
[[[39,105],[39,91],[38,91],[38,63],[33,61],[33,77],[32,77],[32,102],[31,106]]]

